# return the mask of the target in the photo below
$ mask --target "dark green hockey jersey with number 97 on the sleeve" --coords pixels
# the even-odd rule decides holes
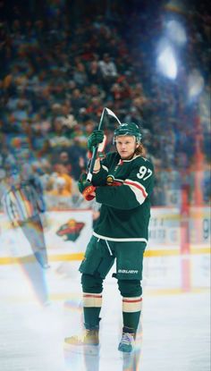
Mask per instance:
[[[102,240],[147,242],[153,164],[142,156],[122,160],[109,153],[92,183],[102,204],[93,234]]]

